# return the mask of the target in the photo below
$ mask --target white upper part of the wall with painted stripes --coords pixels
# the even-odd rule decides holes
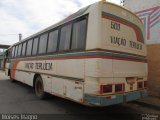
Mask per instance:
[[[147,44],[160,43],[160,0],[125,0],[124,6],[143,21]]]

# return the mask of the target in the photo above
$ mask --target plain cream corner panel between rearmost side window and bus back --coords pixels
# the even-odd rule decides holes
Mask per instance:
[[[90,12],[92,11],[92,12]],[[86,50],[91,50],[98,48],[100,46],[99,41],[101,40],[101,3],[98,2],[95,5],[91,5],[87,12],[89,12],[88,17],[88,27],[87,27],[87,37],[86,37]]]

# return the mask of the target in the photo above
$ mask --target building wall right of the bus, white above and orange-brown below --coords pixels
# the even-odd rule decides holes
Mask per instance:
[[[149,93],[160,97],[160,0],[123,0],[124,7],[136,13],[145,27],[148,52]]]

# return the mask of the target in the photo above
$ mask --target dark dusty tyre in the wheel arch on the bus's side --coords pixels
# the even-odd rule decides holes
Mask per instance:
[[[37,97],[39,97],[40,99],[44,99],[46,97],[46,93],[44,92],[43,80],[40,76],[36,78],[34,88]]]

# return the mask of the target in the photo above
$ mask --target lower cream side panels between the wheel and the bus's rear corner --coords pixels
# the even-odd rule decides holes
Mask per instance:
[[[83,82],[42,75],[44,90],[50,94],[83,102]]]

